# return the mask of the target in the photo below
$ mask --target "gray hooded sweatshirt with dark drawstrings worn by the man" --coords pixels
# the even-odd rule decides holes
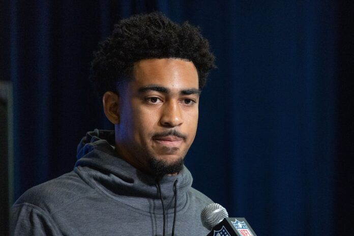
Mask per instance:
[[[176,236],[209,233],[200,212],[212,200],[191,187],[185,166],[157,184],[117,156],[114,131],[97,129],[82,138],[77,159],[73,171],[27,190],[15,202],[14,235],[163,235],[162,202],[166,235],[174,219]]]

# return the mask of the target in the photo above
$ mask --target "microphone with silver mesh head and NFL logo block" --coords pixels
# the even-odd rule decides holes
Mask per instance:
[[[200,220],[211,230],[206,236],[257,236],[245,218],[228,217],[226,209],[218,203],[205,206]]]

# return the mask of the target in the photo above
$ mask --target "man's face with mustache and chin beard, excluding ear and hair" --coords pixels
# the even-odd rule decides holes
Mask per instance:
[[[178,172],[198,123],[199,86],[192,62],[175,58],[141,60],[120,90],[116,144],[138,169]]]

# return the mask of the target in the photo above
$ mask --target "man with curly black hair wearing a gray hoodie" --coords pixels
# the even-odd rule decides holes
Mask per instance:
[[[188,23],[154,12],[116,24],[91,75],[115,130],[88,132],[73,171],[15,202],[14,235],[206,235],[200,212],[212,201],[183,160],[213,67]]]

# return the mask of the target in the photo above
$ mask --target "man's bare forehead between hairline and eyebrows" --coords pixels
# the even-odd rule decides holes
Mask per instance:
[[[199,88],[198,73],[192,62],[176,58],[152,58],[136,62],[132,85],[161,85],[173,90]]]

